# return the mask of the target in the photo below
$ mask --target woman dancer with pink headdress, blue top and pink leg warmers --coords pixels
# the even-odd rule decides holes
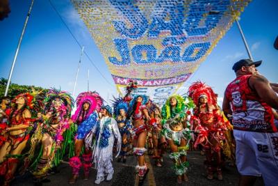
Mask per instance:
[[[102,98],[97,92],[83,92],[76,98],[77,109],[72,116],[72,121],[78,125],[76,137],[74,141],[74,157],[70,158],[70,166],[72,166],[72,177],[69,183],[75,183],[79,176],[79,169],[82,162],[79,158],[81,149],[84,144],[84,139],[87,134],[97,124],[98,111],[103,103]],[[91,157],[92,152],[85,148],[83,157],[84,180],[89,178],[89,170],[92,166]]]

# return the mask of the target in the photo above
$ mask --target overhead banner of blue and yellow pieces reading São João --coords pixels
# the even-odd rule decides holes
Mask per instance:
[[[157,104],[197,70],[251,0],[72,0],[117,86]]]

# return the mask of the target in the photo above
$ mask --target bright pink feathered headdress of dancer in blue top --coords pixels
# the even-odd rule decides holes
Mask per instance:
[[[81,113],[81,111],[83,109],[83,104],[85,102],[88,102],[88,104],[90,104],[88,112],[85,116],[85,118],[88,118],[88,116],[90,116],[90,114],[92,114],[93,111],[100,110],[101,105],[103,104],[103,99],[101,98],[99,93],[97,93],[95,91],[79,93],[79,95],[76,98],[77,109],[76,109],[74,115],[72,116],[73,121],[76,121],[76,119],[78,118],[79,114]]]

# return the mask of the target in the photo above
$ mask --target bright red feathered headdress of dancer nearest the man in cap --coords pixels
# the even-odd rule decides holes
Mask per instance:
[[[211,86],[207,86],[202,82],[194,82],[188,88],[188,96],[193,99],[193,102],[198,105],[199,98],[205,96],[208,99],[208,104],[216,104],[216,94]]]

